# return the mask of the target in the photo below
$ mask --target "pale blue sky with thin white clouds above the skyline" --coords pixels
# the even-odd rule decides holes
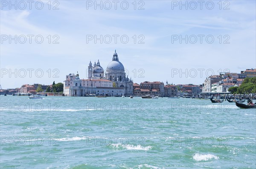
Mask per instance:
[[[116,50],[136,82],[204,82],[256,68],[256,1],[0,1],[0,85],[87,79]]]

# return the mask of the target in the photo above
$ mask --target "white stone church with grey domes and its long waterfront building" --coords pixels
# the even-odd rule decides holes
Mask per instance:
[[[113,86],[114,85],[114,86]],[[79,74],[66,76],[64,81],[65,96],[131,96],[133,95],[133,81],[125,76],[125,68],[119,62],[115,51],[112,61],[105,70],[99,60],[88,66],[88,79],[80,79]]]

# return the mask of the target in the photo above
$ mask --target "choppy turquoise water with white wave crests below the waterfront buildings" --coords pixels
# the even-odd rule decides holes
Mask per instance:
[[[1,168],[256,168],[256,110],[235,103],[0,99]]]

